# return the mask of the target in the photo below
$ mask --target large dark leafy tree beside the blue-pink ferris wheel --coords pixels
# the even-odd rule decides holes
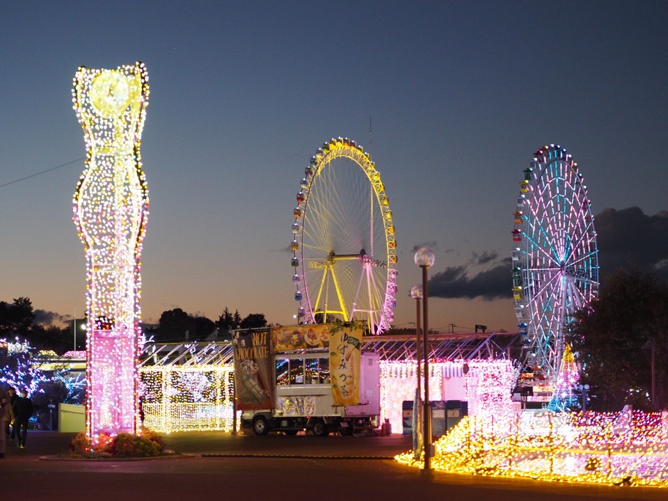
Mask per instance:
[[[592,410],[668,404],[668,286],[654,273],[619,269],[607,276],[598,297],[575,313],[567,337],[580,382],[591,385]]]

